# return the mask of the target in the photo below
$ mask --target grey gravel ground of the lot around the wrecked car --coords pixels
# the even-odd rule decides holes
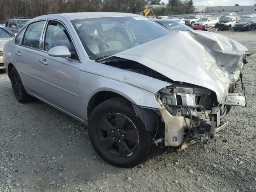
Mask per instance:
[[[218,33],[256,51],[256,30]],[[248,106],[231,110],[224,131],[181,152],[167,148],[134,168],[104,162],[76,120],[38,100],[17,102],[0,71],[0,192],[255,192],[256,54],[248,62]]]

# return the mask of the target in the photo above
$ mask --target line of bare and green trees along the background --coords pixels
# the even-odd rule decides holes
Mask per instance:
[[[143,11],[160,0],[0,0],[0,20],[12,17],[34,18],[45,14],[66,12],[128,12]],[[192,13],[192,0],[169,0],[166,8],[153,12],[158,15]]]

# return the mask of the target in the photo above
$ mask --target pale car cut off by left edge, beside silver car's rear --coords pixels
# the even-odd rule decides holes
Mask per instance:
[[[13,38],[14,34],[0,24],[0,69],[4,69],[4,45]]]

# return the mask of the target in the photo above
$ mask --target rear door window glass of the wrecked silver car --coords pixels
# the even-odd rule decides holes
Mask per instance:
[[[30,24],[24,35],[23,45],[39,49],[40,37],[45,21]]]

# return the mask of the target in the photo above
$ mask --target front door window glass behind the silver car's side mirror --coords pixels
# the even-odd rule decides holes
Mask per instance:
[[[66,46],[71,52],[71,58],[79,60],[76,49],[74,48],[71,38],[64,26],[58,22],[50,22],[46,30],[44,50],[49,51],[51,48],[56,46]]]

